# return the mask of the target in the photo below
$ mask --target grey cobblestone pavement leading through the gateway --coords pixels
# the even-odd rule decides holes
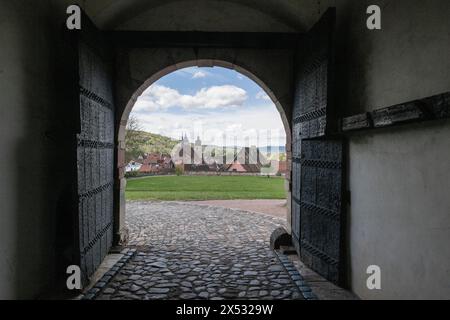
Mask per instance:
[[[138,253],[98,299],[301,299],[276,255],[269,215],[182,202],[129,202]]]

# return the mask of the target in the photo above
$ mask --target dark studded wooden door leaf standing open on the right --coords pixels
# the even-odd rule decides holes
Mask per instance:
[[[333,32],[329,9],[300,43],[293,110],[292,236],[302,261],[342,278],[343,142],[334,137]]]

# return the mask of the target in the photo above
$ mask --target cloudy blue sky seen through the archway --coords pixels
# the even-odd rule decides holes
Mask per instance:
[[[172,138],[186,133],[204,144],[285,144],[280,114],[263,89],[221,67],[185,68],[162,77],[139,97],[131,115],[143,130]]]

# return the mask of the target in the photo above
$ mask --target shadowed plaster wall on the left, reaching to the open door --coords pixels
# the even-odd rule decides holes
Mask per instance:
[[[75,121],[60,4],[0,1],[0,299],[45,296],[70,258]]]

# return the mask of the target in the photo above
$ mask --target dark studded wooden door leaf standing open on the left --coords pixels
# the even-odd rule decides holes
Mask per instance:
[[[75,242],[86,283],[113,240],[113,51],[86,15],[74,48],[79,110]]]

